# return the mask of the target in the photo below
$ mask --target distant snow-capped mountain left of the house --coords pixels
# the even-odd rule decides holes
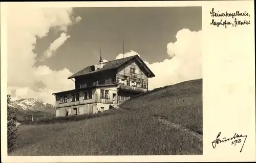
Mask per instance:
[[[53,105],[38,101],[33,98],[12,101],[10,105],[17,109],[55,113],[55,107]]]

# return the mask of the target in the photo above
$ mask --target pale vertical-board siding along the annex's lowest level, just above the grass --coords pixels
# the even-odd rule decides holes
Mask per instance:
[[[97,103],[93,103],[56,108],[56,111],[58,110],[59,112],[56,117],[65,117],[67,111],[69,111],[69,115],[74,115],[74,108],[77,108],[77,115],[97,113]]]

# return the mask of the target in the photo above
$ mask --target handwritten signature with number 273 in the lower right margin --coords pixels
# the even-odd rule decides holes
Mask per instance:
[[[244,143],[245,143],[246,138],[247,138],[247,135],[242,135],[242,134],[239,135],[238,133],[235,133],[235,134],[233,135],[233,137],[230,137],[230,138],[223,137],[222,139],[219,138],[220,135],[221,135],[221,132],[219,132],[219,134],[217,135],[216,140],[213,141],[213,142],[211,142],[212,148],[215,149],[216,146],[217,146],[217,144],[225,143],[225,142],[228,142],[228,141],[232,141],[232,142],[231,142],[231,145],[236,146],[237,143],[241,143],[241,138],[242,138],[242,137],[245,137]],[[242,152],[242,150],[243,150],[244,143],[243,143],[243,146],[242,146],[240,152]]]

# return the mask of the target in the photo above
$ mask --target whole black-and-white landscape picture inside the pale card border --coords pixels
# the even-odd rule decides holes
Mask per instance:
[[[202,154],[202,7],[22,9],[10,155]]]

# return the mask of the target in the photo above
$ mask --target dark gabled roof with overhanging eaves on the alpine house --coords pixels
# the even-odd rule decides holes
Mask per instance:
[[[77,72],[76,74],[70,76],[68,79],[72,79],[78,76],[82,76],[82,75],[88,75],[88,74],[93,74],[93,73],[98,73],[98,72],[102,72],[105,71],[107,69],[113,69],[113,68],[118,68],[119,66],[121,66],[122,64],[126,63],[127,61],[138,57],[138,59],[144,64],[144,66],[148,69],[148,71],[150,71],[150,77],[155,77],[155,75],[153,74],[153,72],[150,70],[150,68],[148,68],[146,66],[146,64],[142,61],[142,59],[138,56],[131,56],[131,57],[126,57],[126,58],[121,58],[121,59],[116,59],[116,60],[112,60],[112,61],[108,61],[108,62],[104,62],[103,67],[100,69],[95,69],[94,65],[88,66],[84,69],[82,69],[81,71]]]

